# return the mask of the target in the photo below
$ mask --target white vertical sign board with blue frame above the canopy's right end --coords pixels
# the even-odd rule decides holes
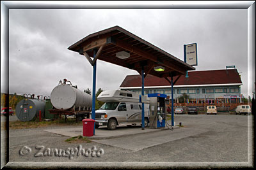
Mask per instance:
[[[190,66],[197,66],[197,45],[196,43],[184,45],[184,62]]]

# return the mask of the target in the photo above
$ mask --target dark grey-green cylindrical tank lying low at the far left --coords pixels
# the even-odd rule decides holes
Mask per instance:
[[[44,117],[45,101],[41,99],[22,99],[16,105],[16,117],[22,122],[28,122],[39,115],[41,111]]]

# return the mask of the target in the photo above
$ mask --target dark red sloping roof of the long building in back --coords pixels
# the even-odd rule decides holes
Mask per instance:
[[[211,85],[211,84],[229,84],[242,83],[237,69],[221,69],[211,71],[190,71],[188,78],[186,75],[180,76],[175,85]],[[173,77],[173,81],[177,76]],[[170,78],[169,78],[170,80]],[[170,86],[170,83],[164,78],[159,78],[148,74],[145,78],[145,87],[150,86]],[[141,87],[141,76],[126,76],[120,87]]]

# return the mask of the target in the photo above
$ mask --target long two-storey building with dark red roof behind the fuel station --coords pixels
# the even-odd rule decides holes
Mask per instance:
[[[173,82],[178,76],[173,77]],[[243,85],[237,69],[221,69],[209,71],[189,71],[188,77],[182,75],[173,85],[173,99],[182,94],[189,95],[190,103],[238,103],[241,102],[241,85]],[[130,90],[141,94],[141,76],[126,76],[121,90]],[[172,95],[171,85],[164,78],[148,74],[145,78],[145,94],[161,93]]]

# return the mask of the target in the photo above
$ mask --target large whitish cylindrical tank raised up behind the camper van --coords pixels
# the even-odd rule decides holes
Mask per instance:
[[[75,108],[92,108],[92,96],[86,92],[78,90],[76,87],[64,83],[54,87],[51,92],[51,103],[58,110],[68,110]],[[61,81],[60,81],[61,82]]]

